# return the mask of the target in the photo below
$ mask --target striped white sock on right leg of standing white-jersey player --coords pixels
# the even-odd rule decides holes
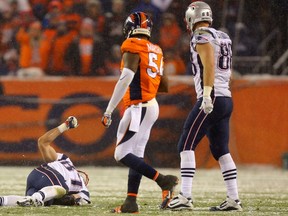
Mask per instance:
[[[219,158],[219,165],[226,184],[227,196],[231,199],[239,199],[237,187],[237,168],[230,155],[225,154]]]

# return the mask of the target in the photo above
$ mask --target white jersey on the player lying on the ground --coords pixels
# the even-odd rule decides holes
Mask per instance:
[[[88,189],[82,176],[75,169],[72,161],[65,154],[57,153],[57,160],[47,164],[49,167],[58,171],[65,179],[69,192],[80,193],[81,197],[90,200]],[[88,195],[87,195],[88,194]]]

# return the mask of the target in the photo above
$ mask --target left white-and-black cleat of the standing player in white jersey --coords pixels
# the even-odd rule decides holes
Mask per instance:
[[[192,210],[193,202],[191,198],[186,198],[180,193],[171,200],[167,209],[171,209],[172,211]]]

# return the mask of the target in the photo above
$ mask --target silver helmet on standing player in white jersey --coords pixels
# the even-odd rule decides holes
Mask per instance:
[[[198,22],[206,21],[212,24],[212,10],[210,6],[202,1],[191,3],[185,13],[187,29],[193,32],[193,27]]]

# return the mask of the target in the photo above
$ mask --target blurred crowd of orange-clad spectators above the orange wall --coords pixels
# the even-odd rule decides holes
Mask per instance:
[[[164,51],[166,73],[189,74],[189,35],[183,18],[191,2],[1,0],[0,76],[118,75],[120,46],[124,40],[122,27],[126,17],[133,11],[144,11],[152,17],[154,26],[151,40]],[[223,1],[208,3],[215,8],[213,16],[216,26],[221,26]],[[225,27],[232,36],[237,7],[237,4],[232,4],[226,15],[229,22],[225,23]],[[254,19],[252,22],[256,21]],[[257,23],[255,26],[261,28]],[[239,53],[254,55],[253,50],[256,50],[255,46],[261,39],[259,28],[240,27],[243,32],[239,44],[243,42],[246,49],[250,49],[238,46]],[[253,32],[255,35],[251,37]],[[245,38],[247,35],[250,37]]]

